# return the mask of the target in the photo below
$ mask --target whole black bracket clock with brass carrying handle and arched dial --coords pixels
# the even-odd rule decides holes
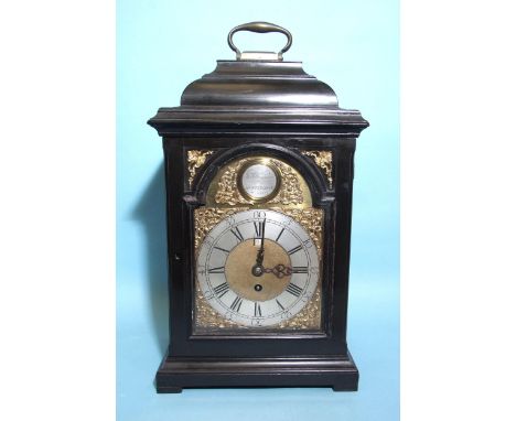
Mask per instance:
[[[237,31],[280,32],[279,53]],[[251,22],[235,61],[149,120],[165,161],[170,346],[158,392],[356,390],[346,343],[355,141],[368,126]]]

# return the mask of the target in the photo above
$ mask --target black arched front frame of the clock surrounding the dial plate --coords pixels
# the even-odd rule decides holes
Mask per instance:
[[[170,356],[278,356],[278,355],[341,355],[347,358],[345,341],[347,312],[347,273],[350,245],[346,238],[351,229],[351,185],[355,139],[324,136],[271,136],[246,133],[205,138],[181,136],[163,140],[166,163],[168,229],[169,229],[169,291],[170,291]],[[186,183],[185,154],[190,149],[213,150],[200,169],[192,188]],[[331,150],[334,160],[334,185],[327,186],[314,162],[302,156],[301,150]],[[323,262],[327,268],[323,291],[325,335],[278,336],[192,336],[193,322],[193,209],[203,204],[207,184],[229,156],[249,153],[267,153],[293,164],[311,180],[314,206],[326,212]],[[179,160],[178,156],[182,156]],[[180,162],[181,161],[181,162]],[[334,238],[334,233],[338,235]],[[331,234],[331,236],[330,236]],[[337,256],[334,265],[334,256]],[[333,270],[335,269],[335,272]],[[336,281],[334,281],[336,280]],[[257,341],[261,339],[261,341]]]

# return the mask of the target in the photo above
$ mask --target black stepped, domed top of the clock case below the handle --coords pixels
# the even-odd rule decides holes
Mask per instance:
[[[341,109],[335,93],[308,75],[301,62],[217,61],[190,84],[181,106],[149,120],[160,136],[223,130],[316,131],[356,138],[368,122]]]

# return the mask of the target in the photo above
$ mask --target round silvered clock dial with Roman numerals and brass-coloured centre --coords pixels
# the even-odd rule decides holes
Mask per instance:
[[[245,210],[204,238],[196,274],[205,300],[223,317],[243,326],[273,326],[312,298],[319,257],[310,235],[291,217]]]

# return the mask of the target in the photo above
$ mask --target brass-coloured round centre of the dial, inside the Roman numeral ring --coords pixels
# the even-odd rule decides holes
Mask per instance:
[[[290,274],[279,278],[265,271],[259,277],[252,274],[260,246],[259,239],[245,240],[232,250],[226,260],[225,273],[229,288],[241,298],[251,301],[272,300],[284,291],[291,278]],[[290,268],[289,255],[277,242],[265,239],[264,269],[272,269],[278,265]]]

